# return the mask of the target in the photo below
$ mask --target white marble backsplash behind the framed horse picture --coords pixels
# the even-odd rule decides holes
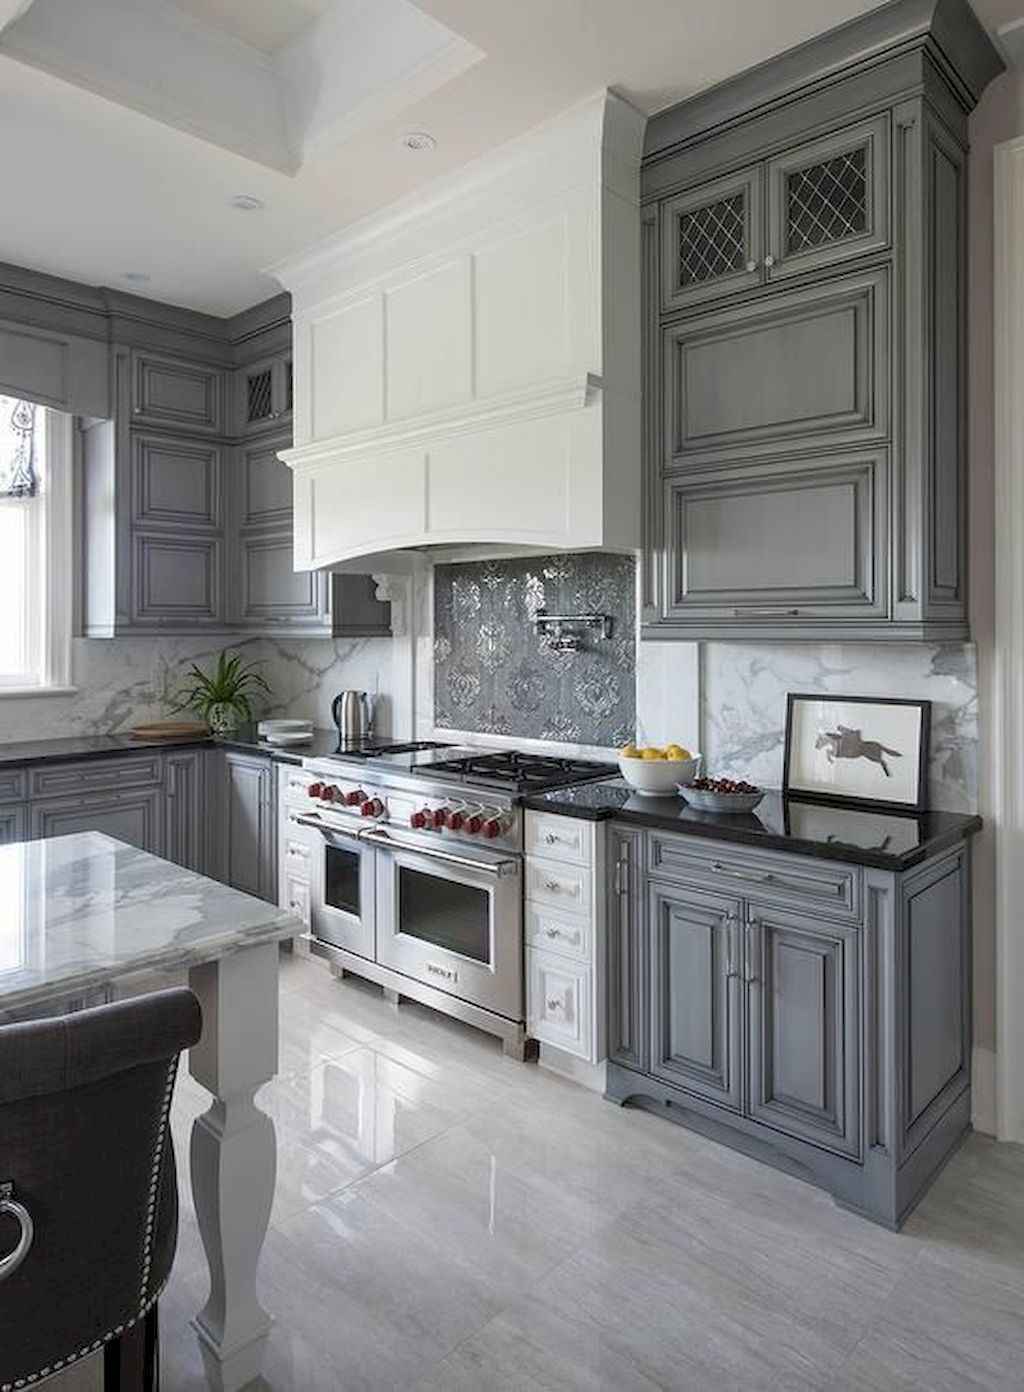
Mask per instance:
[[[973,643],[708,643],[701,657],[704,756],[712,774],[782,785],[787,692],[931,700],[928,802],[978,806],[978,675]]]

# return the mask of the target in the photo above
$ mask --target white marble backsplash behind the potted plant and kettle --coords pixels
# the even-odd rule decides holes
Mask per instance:
[[[330,728],[334,693],[358,686],[383,693],[377,727],[390,734],[391,639],[117,638],[74,640],[75,695],[0,700],[0,743],[118,734],[142,720],[163,720],[188,664],[210,667],[224,647],[260,663],[271,696],[259,715]]]

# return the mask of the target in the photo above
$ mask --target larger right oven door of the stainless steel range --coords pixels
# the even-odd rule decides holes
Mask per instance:
[[[522,862],[377,839],[377,960],[523,1019]]]

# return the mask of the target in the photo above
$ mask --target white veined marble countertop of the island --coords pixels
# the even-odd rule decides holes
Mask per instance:
[[[97,831],[0,846],[0,1020],[303,931],[275,905]]]

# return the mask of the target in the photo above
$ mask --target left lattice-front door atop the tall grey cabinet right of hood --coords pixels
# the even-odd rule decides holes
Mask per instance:
[[[760,285],[764,166],[687,189],[661,205],[661,305],[683,309]]]

